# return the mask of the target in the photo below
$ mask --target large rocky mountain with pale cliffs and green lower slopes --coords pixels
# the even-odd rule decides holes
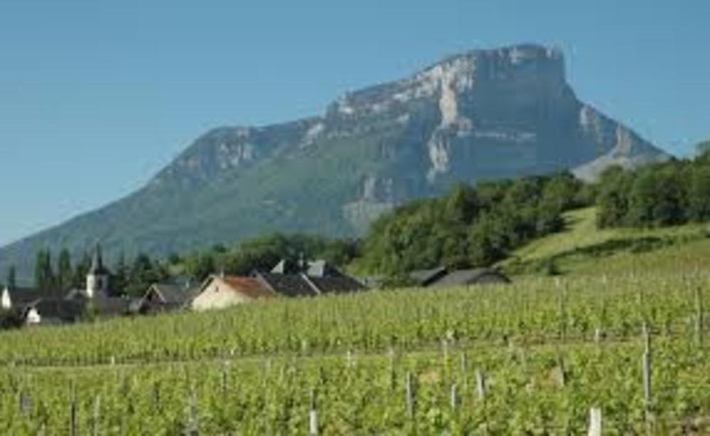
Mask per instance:
[[[580,102],[559,50],[515,45],[449,57],[345,94],[322,116],[197,138],[146,186],[0,250],[27,272],[35,252],[154,255],[279,230],[358,235],[383,211],[457,181],[667,158]]]

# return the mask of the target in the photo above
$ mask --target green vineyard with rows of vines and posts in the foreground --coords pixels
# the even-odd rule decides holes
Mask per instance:
[[[679,265],[5,332],[0,432],[702,434],[709,294]]]

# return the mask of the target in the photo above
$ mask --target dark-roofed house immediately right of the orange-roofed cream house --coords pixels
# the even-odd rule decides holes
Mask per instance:
[[[318,296],[366,289],[356,279],[339,272],[324,260],[295,262],[282,260],[271,272],[256,271],[253,278],[275,294],[282,296]]]

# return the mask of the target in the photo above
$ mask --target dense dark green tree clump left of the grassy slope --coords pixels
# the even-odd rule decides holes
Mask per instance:
[[[572,175],[454,186],[382,216],[364,242],[364,269],[396,275],[445,265],[486,266],[534,237],[558,231],[562,212],[579,205]]]

